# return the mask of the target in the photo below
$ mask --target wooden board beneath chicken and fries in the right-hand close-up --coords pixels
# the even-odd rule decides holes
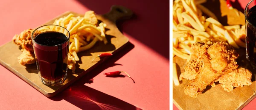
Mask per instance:
[[[226,6],[225,0],[207,0],[203,4],[209,10],[213,11],[222,24],[244,24],[244,15],[239,12],[240,16],[236,16],[234,11],[230,11]],[[236,16],[236,17],[234,17]],[[236,20],[233,20],[236,19]],[[237,62],[239,66],[245,67],[252,71],[252,81],[250,86],[237,87],[233,91],[224,91],[220,84],[215,87],[208,86],[205,91],[199,94],[196,98],[185,95],[184,86],[188,80],[180,81],[180,85],[173,84],[173,103],[180,110],[241,110],[246,104],[256,97],[256,70],[252,69],[249,62],[246,60],[245,48],[237,50],[239,58]],[[177,56],[173,58],[173,62],[177,63],[177,72],[179,75],[184,72],[186,60]]]

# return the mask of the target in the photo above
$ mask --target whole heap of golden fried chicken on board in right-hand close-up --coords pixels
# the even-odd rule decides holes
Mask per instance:
[[[198,41],[192,45],[191,59],[180,74],[180,80],[191,80],[184,92],[192,97],[202,93],[208,85],[221,83],[225,91],[233,87],[250,85],[252,73],[248,69],[238,67],[236,50],[226,42]]]

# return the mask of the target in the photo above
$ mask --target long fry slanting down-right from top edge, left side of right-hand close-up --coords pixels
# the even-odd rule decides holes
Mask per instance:
[[[204,25],[200,22],[198,19],[198,16],[195,14],[195,12],[189,7],[189,5],[186,4],[184,0],[181,0],[183,7],[186,11],[189,11],[189,14],[195,19],[195,21],[198,23],[198,25],[204,30]]]

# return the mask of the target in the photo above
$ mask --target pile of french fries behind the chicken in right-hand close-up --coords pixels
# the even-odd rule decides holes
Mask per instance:
[[[234,48],[245,47],[240,25],[223,26],[214,13],[201,3],[206,0],[175,0],[173,3],[173,57],[189,60],[196,41],[227,41]],[[203,16],[202,14],[209,16]],[[243,27],[243,26],[242,26]]]

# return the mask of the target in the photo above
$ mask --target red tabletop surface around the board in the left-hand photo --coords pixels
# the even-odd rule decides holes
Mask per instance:
[[[53,98],[0,66],[0,110],[169,109],[168,0],[0,0],[0,45],[65,11],[105,14],[111,5],[134,11],[132,19],[119,22],[131,44]],[[127,71],[136,83],[103,75],[116,70]]]

